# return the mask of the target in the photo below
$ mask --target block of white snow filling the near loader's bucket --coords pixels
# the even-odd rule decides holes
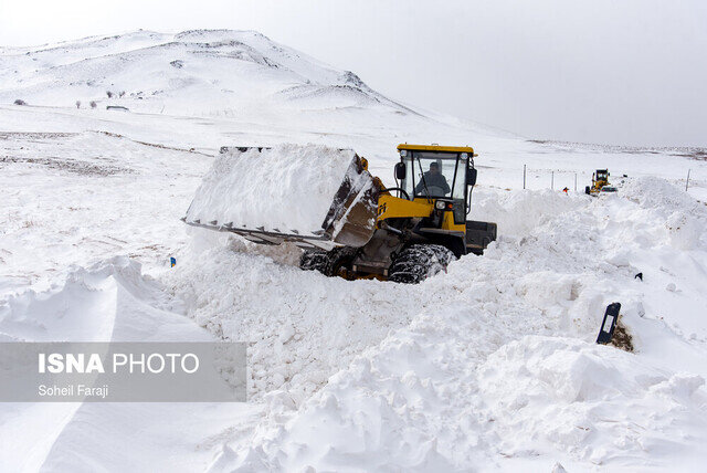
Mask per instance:
[[[230,149],[194,196],[187,222],[317,234],[356,154],[319,145]],[[214,223],[215,222],[215,223]]]

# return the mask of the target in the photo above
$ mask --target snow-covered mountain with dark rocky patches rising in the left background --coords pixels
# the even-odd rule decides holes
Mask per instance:
[[[380,106],[409,111],[338,71],[254,31],[149,31],[40,48],[0,49],[0,103],[73,106],[81,101],[141,112],[241,113]],[[108,97],[110,94],[113,97]]]

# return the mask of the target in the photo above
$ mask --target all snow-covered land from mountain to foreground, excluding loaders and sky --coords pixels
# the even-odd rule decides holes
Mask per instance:
[[[499,233],[420,285],[180,221],[220,146],[352,148],[390,183],[405,141],[474,146]],[[604,167],[620,191],[584,196]],[[0,49],[0,340],[250,343],[247,403],[0,404],[0,470],[704,471],[706,201],[703,150],[527,140],[254,32]],[[611,302],[633,353],[593,343]]]

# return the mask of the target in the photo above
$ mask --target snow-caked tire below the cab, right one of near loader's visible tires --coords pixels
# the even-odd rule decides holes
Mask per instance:
[[[454,253],[441,244],[412,244],[393,259],[388,271],[388,281],[418,284],[434,276],[455,260]]]

